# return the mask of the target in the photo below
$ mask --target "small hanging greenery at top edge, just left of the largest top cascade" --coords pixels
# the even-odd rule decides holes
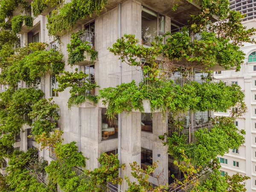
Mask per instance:
[[[61,0],[34,0],[31,3],[33,15],[37,17],[44,11],[44,9],[47,8],[49,4],[51,4],[53,7],[60,4],[61,2]]]

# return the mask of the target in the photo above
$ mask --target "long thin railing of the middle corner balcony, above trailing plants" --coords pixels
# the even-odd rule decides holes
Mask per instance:
[[[119,84],[119,79],[122,78],[122,83],[130,83],[132,80],[136,82],[136,85],[140,87],[154,87],[154,88],[161,88],[165,87],[165,83],[173,81],[174,84],[180,85],[183,87],[184,84],[191,84],[192,81],[196,81],[200,84],[207,82],[207,83],[218,83],[223,81],[225,85],[231,86],[232,81],[226,80],[219,80],[214,78],[207,78],[195,75],[188,75],[182,73],[173,73],[170,71],[163,71],[158,70],[157,81],[151,81],[149,77],[151,73],[143,73],[143,70],[133,70],[133,71],[126,71],[122,72],[122,76],[120,73],[112,73],[108,74],[108,84],[109,87],[116,87]],[[160,80],[160,81],[159,81]]]

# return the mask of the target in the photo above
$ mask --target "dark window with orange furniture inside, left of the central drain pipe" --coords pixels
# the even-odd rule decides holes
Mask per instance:
[[[116,139],[118,137],[118,116],[108,119],[106,108],[102,108],[102,140]]]

